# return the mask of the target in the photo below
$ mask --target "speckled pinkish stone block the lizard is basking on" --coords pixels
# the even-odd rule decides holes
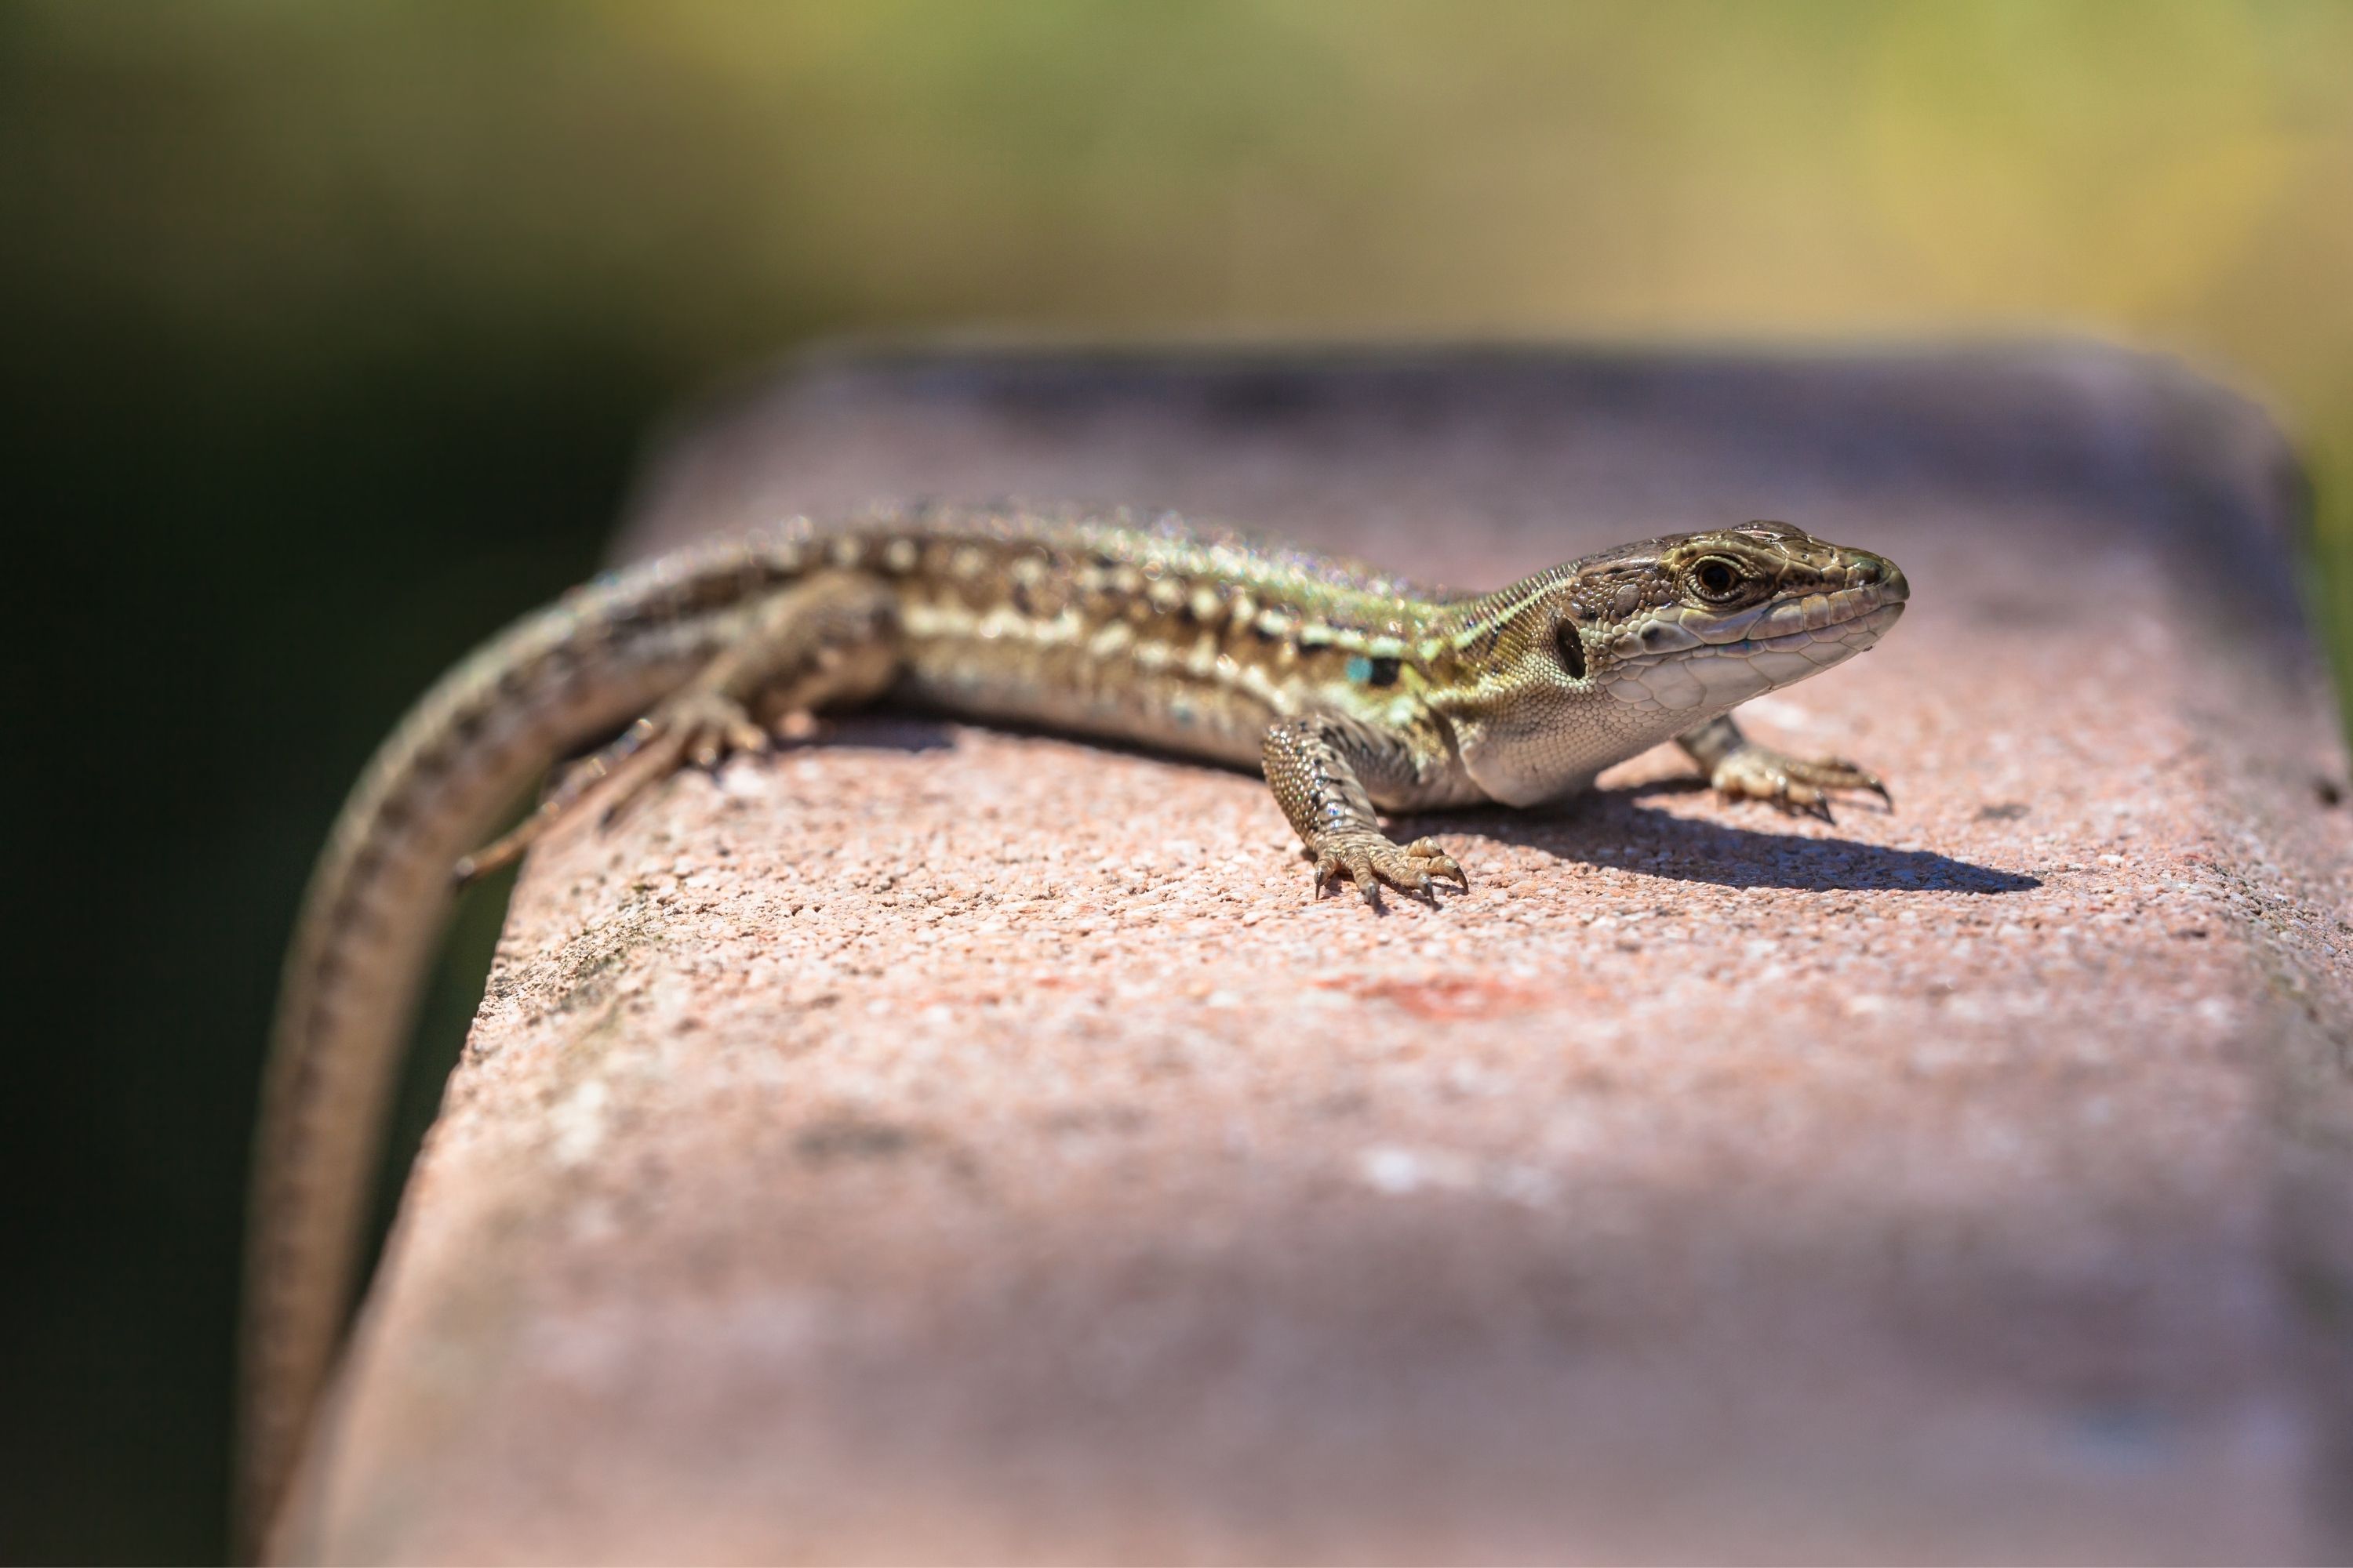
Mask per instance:
[[[1487,585],[1779,515],[1915,585],[1315,900],[1247,776],[922,717],[541,849],[306,1476],[341,1561],[2353,1549],[2353,825],[2278,437],[2162,362],[880,360],[628,534],[1217,512]]]

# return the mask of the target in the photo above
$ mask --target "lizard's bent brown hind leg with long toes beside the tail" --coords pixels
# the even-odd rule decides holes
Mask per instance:
[[[567,766],[511,832],[464,856],[456,884],[513,865],[565,823],[609,823],[680,766],[708,769],[765,750],[769,731],[753,719],[753,703],[784,731],[828,703],[880,696],[896,672],[899,602],[880,578],[824,571],[781,588],[751,607],[736,637],[692,682]]]

